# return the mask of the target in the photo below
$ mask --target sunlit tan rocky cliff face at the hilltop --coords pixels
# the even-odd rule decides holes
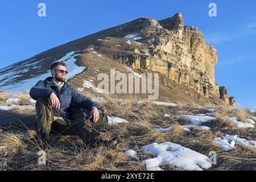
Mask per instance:
[[[144,23],[143,23],[144,21]],[[183,26],[180,13],[172,18],[156,22],[142,19],[144,28],[139,30],[140,41],[147,47],[130,49],[133,54],[117,59],[134,69],[146,69],[163,73],[171,80],[189,86],[205,97],[215,94],[229,104],[228,91],[220,94],[214,76],[218,52],[205,42],[202,32],[196,27]],[[142,53],[144,52],[144,53]]]

